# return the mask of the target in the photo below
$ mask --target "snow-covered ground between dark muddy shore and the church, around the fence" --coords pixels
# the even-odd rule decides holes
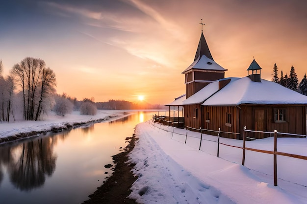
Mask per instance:
[[[162,130],[162,128],[164,130]],[[176,133],[173,133],[175,130]],[[185,144],[185,135],[188,135]],[[220,146],[216,136],[173,129],[151,121],[138,124],[139,137],[130,153],[135,162],[131,198],[144,204],[307,204],[307,160],[278,156],[278,186],[273,181],[273,156]],[[221,138],[242,146],[241,140]],[[247,147],[273,150],[273,138],[248,141]],[[307,138],[278,138],[278,151],[307,155]],[[223,159],[222,159],[223,158]]]

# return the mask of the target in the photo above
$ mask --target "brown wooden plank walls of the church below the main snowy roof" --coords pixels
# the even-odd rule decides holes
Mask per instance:
[[[286,121],[274,121],[274,109],[286,110]],[[194,111],[198,115],[194,115]],[[227,123],[228,114],[231,122]],[[241,105],[240,107],[226,106],[184,106],[184,125],[192,128],[202,127],[208,130],[223,132],[220,135],[228,138],[243,139],[243,128],[273,132],[275,129],[282,133],[306,135],[307,106],[303,105]],[[230,134],[239,133],[239,134]],[[254,138],[264,138],[270,135],[263,133],[249,133]]]

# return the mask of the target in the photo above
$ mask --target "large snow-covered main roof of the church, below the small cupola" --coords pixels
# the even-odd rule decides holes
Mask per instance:
[[[204,88],[205,89],[205,88]],[[233,106],[240,104],[306,104],[307,96],[280,84],[261,79],[261,83],[243,77],[230,82],[208,98],[204,106]]]

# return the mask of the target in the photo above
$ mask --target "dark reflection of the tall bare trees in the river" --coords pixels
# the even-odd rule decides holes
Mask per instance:
[[[56,155],[52,140],[52,137],[38,138],[0,149],[0,164],[9,170],[10,181],[17,189],[29,191],[40,187],[46,176],[53,174]]]

